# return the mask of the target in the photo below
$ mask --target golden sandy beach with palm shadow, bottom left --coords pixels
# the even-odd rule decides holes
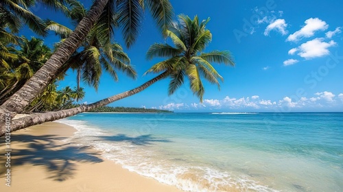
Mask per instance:
[[[75,129],[49,122],[13,132],[10,187],[1,137],[0,191],[180,191],[123,169],[93,149],[64,141]]]

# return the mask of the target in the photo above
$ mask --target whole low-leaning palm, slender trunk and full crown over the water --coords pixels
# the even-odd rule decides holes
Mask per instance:
[[[202,101],[204,87],[200,80],[200,74],[206,80],[209,80],[209,82],[219,85],[217,79],[222,79],[222,77],[217,73],[217,71],[215,71],[210,62],[223,62],[228,65],[234,65],[234,62],[228,51],[210,51],[209,53],[202,53],[212,38],[211,32],[205,28],[209,19],[199,23],[198,16],[194,17],[193,20],[184,15],[179,16],[179,18],[180,23],[174,24],[167,30],[168,36],[174,42],[176,47],[171,47],[166,44],[154,44],[147,51],[147,58],[153,58],[154,56],[169,57],[169,59],[163,62],[158,62],[147,71],[147,73],[162,72],[160,75],[145,82],[137,88],[102,99],[94,104],[79,106],[68,110],[47,112],[42,115],[23,117],[16,121],[12,121],[12,131],[36,125],[38,123],[44,123],[46,121],[55,121],[57,119],[70,117],[80,112],[86,112],[94,108],[98,108],[99,106],[106,106],[107,104],[119,99],[137,94],[158,80],[163,80],[166,77],[171,77],[169,94],[174,93],[176,88],[184,82],[185,76],[189,77],[191,91],[193,91],[193,93],[200,98],[200,101]],[[0,132],[0,135],[4,133],[5,132]]]

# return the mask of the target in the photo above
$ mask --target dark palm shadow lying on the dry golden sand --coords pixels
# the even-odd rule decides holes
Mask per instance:
[[[3,138],[1,138],[2,140]],[[49,172],[49,179],[64,181],[73,178],[77,163],[101,163],[99,153],[89,152],[89,147],[71,146],[69,143],[57,145],[54,141],[67,139],[53,134],[43,136],[17,135],[15,141],[27,145],[25,149],[12,149],[11,167],[20,165],[43,166]],[[1,170],[0,174],[3,175]]]

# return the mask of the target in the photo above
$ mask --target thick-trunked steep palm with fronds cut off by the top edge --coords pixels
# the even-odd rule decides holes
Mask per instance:
[[[105,9],[106,8],[106,9]],[[113,35],[111,26],[111,17],[115,11],[119,13],[119,26],[123,29],[123,36],[126,45],[130,47],[138,36],[139,25],[143,16],[143,10],[150,10],[152,17],[158,27],[163,31],[171,23],[172,8],[168,0],[96,0],[91,10],[89,10],[75,28],[73,33],[62,43],[54,52],[51,58],[45,62],[43,67],[37,71],[34,76],[10,99],[5,101],[0,107],[0,126],[5,125],[6,114],[14,117],[16,113],[22,112],[34,98],[43,92],[44,88],[60,73],[60,68],[67,62],[71,54],[82,44],[86,35],[91,31],[95,23],[104,23],[99,25],[108,29],[107,36]],[[105,14],[107,13],[107,14]],[[98,19],[108,19],[107,21],[98,21]]]

